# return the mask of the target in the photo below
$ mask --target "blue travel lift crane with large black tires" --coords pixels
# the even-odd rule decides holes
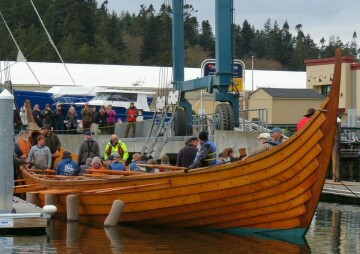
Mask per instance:
[[[172,0],[172,6],[173,90],[179,91],[179,107],[184,109],[175,112],[175,135],[192,134],[192,106],[185,93],[205,88],[215,101],[223,102],[215,109],[215,129],[239,127],[239,95],[228,92],[233,75],[233,0],[215,0],[215,74],[188,81],[184,81],[184,0]]]

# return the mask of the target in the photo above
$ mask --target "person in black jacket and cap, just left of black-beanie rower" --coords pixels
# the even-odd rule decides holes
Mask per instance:
[[[199,139],[196,136],[191,136],[186,140],[185,146],[181,148],[178,153],[176,166],[187,168],[194,162],[198,151],[198,142]]]

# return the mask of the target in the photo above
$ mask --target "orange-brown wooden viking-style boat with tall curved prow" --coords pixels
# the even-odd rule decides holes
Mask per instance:
[[[303,237],[314,216],[332,154],[338,113],[341,50],[329,96],[302,130],[246,162],[159,174],[60,177],[23,170],[38,205],[54,194],[58,214],[77,194],[80,218],[104,219],[114,200],[119,222],[201,227],[233,233]],[[18,186],[19,190],[21,189]]]

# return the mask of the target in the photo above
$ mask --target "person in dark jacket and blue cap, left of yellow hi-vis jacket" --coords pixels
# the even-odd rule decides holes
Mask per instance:
[[[80,145],[78,153],[78,165],[86,164],[86,159],[100,157],[100,148],[97,141],[93,140],[91,131],[84,132],[84,142]]]

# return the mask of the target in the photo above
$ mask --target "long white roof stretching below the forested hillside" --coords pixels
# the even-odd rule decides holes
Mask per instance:
[[[8,62],[10,77],[17,87],[33,85],[73,86],[71,77],[62,63]],[[3,83],[5,62],[0,62],[0,82]],[[70,75],[79,87],[158,88],[171,86],[172,68],[131,65],[66,64]],[[254,78],[252,79],[252,73]],[[185,80],[201,77],[200,68],[185,68]],[[34,77],[36,76],[36,78]],[[7,75],[9,76],[9,75]],[[245,90],[259,87],[306,88],[306,72],[245,71]]]

